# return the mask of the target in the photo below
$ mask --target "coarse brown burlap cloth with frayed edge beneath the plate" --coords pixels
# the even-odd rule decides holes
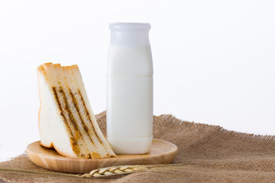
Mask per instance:
[[[97,119],[105,132],[105,113],[98,114]],[[172,115],[154,117],[153,135],[175,143],[179,147],[175,163],[192,164],[191,168],[109,178],[0,171],[0,182],[275,182],[275,136],[232,132],[220,126],[181,121]],[[49,171],[36,167],[26,156],[0,162],[0,168]]]

